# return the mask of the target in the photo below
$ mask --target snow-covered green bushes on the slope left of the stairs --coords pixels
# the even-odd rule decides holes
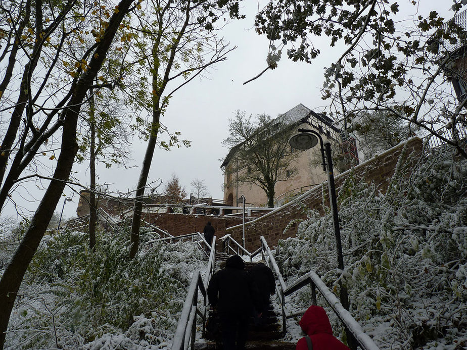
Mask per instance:
[[[20,289],[7,348],[167,346],[202,253],[191,243],[161,243],[130,260],[128,236],[102,232],[94,252],[83,233],[45,237]]]

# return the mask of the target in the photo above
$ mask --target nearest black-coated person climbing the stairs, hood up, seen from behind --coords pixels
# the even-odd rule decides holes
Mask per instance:
[[[244,268],[241,257],[231,256],[225,268],[216,272],[208,285],[209,304],[217,308],[220,318],[224,350],[245,348],[248,319],[254,305],[258,308],[257,291]]]

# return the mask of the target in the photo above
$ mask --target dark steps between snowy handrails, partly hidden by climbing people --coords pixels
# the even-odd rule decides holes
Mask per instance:
[[[222,269],[225,266],[227,260],[226,253],[216,253],[216,271]],[[245,270],[248,271],[254,263],[245,262]],[[216,313],[211,312],[208,317],[208,322],[216,322],[219,324],[219,318]],[[220,338],[220,332],[211,334],[205,332],[203,339],[196,343],[196,348],[201,349],[222,349],[222,341]],[[272,306],[269,307],[265,315],[262,317],[262,321],[259,324],[255,324],[253,317],[250,317],[250,325],[248,332],[248,340],[246,343],[247,349],[258,349],[258,350],[269,350],[269,349],[295,349],[294,343],[280,341],[284,336],[281,317],[276,314]]]

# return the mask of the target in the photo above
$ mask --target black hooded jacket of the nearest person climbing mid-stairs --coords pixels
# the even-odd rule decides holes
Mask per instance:
[[[219,314],[249,316],[253,305],[259,309],[251,276],[243,267],[242,258],[232,256],[227,259],[225,268],[216,272],[209,281],[209,304],[217,307]]]

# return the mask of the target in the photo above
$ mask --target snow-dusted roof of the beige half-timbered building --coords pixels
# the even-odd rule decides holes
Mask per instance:
[[[313,126],[316,128],[316,130],[318,130],[323,135],[326,135],[326,133],[323,132],[323,129],[332,129],[336,133],[339,133],[340,131],[338,128],[336,128],[333,125],[333,120],[331,118],[326,117],[325,115],[321,113],[315,113],[312,110],[310,110],[308,107],[304,106],[303,104],[298,104],[294,108],[290,109],[284,114],[279,115],[277,118],[273,120],[284,122],[287,125],[292,125],[292,124],[299,125],[299,124],[305,123],[305,121],[308,119],[313,124]],[[315,123],[313,123],[313,119],[315,120]],[[236,149],[240,145],[242,145],[242,143],[230,148],[230,151],[228,152],[227,156],[222,162],[222,165],[220,166],[221,168],[225,167],[228,164],[232,156],[234,156]]]

